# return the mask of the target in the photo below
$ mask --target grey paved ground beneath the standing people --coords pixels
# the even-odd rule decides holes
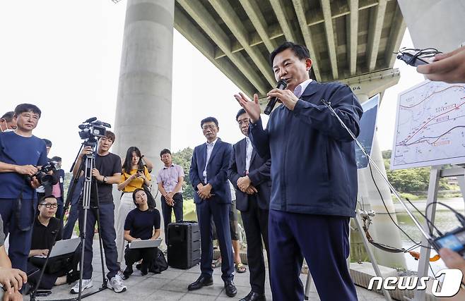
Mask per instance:
[[[124,266],[122,266],[124,268]],[[94,241],[94,259],[93,259],[93,288],[85,290],[95,291],[102,285],[102,267],[100,265],[100,254],[98,251],[98,241]],[[237,287],[237,296],[230,298],[223,291],[223,281],[221,280],[220,268],[213,272],[213,285],[188,292],[187,285],[196,280],[200,275],[199,265],[189,270],[168,268],[162,274],[151,274],[141,276],[141,272],[134,269],[134,274],[125,281],[128,290],[124,293],[114,293],[113,290],[107,289],[96,293],[86,300],[189,300],[189,301],[208,301],[208,300],[239,300],[249,293],[249,271],[244,274],[235,274],[234,282]],[[307,275],[302,275],[302,282],[305,285]],[[271,300],[271,290],[269,281],[266,281],[266,299]],[[52,295],[49,297],[37,297],[37,300],[63,300],[77,295],[69,293],[71,285],[61,285],[55,287]],[[382,301],[384,297],[377,293],[370,292],[364,288],[358,288],[358,299],[360,301]],[[28,300],[26,297],[25,300]],[[310,293],[310,300],[319,300],[316,291],[313,289]],[[336,301],[336,300],[335,300]]]

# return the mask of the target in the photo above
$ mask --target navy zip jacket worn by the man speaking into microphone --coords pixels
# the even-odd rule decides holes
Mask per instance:
[[[355,216],[357,163],[351,135],[321,102],[326,99],[358,136],[362,107],[350,87],[312,81],[290,111],[278,106],[266,130],[249,125],[257,153],[271,157],[270,209],[336,216]]]

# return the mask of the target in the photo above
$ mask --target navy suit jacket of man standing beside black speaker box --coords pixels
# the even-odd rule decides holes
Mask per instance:
[[[211,152],[210,161],[206,168],[207,180],[211,184],[211,194],[208,202],[231,203],[231,190],[228,183],[228,165],[231,156],[231,145],[223,142],[218,138],[215,147]],[[192,154],[191,168],[189,178],[194,190],[197,191],[197,185],[204,183],[204,169],[206,164],[206,143],[196,146]],[[208,184],[204,183],[204,185]],[[203,199],[199,195],[194,195],[194,202],[200,203]]]

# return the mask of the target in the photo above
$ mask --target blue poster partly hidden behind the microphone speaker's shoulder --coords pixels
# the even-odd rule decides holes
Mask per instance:
[[[371,156],[371,149],[373,146],[373,137],[375,136],[376,117],[379,107],[379,94],[371,97],[362,104],[363,115],[360,119],[360,134],[357,140],[365,149],[368,155]],[[363,154],[358,145],[355,145],[355,159],[357,160],[357,168],[367,168],[368,158]]]

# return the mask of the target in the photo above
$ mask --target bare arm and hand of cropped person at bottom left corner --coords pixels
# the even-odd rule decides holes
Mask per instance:
[[[28,276],[19,269],[11,269],[11,261],[6,254],[4,243],[4,221],[0,216],[0,284],[3,286],[0,292],[4,293],[1,300],[20,301],[23,300],[23,295],[19,290],[23,283],[28,281]]]

